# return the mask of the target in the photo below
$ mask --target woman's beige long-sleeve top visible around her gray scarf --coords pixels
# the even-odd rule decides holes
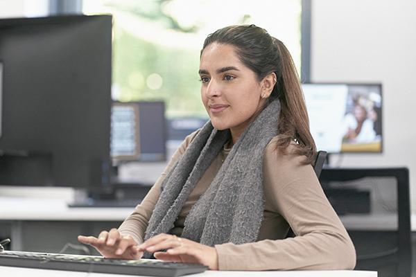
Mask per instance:
[[[132,235],[137,242],[143,241],[162,181],[197,133],[187,136],[148,195],[121,224],[122,234]],[[304,157],[293,154],[294,145],[289,146],[288,154],[283,154],[275,150],[275,142],[276,138],[270,141],[263,158],[266,201],[257,242],[215,245],[219,269],[354,269],[354,244],[325,197],[312,166],[302,163]],[[227,149],[220,152],[202,175],[171,233],[182,233],[191,207],[207,190],[228,153]],[[295,238],[286,238],[289,226]]]

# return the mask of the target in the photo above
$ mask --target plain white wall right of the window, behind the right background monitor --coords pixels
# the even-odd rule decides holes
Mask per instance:
[[[416,213],[416,1],[312,0],[311,80],[383,84],[383,154],[341,166],[407,166]]]

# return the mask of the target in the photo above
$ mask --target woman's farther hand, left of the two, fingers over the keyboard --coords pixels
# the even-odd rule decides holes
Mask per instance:
[[[143,251],[137,250],[137,242],[130,235],[121,235],[119,230],[102,231],[98,238],[78,235],[78,241],[95,247],[105,258],[133,260],[139,259]]]

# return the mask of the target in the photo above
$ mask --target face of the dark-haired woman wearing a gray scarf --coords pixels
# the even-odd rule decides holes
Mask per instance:
[[[234,46],[212,43],[200,59],[201,96],[216,129],[243,132],[265,100],[261,82],[236,55]]]

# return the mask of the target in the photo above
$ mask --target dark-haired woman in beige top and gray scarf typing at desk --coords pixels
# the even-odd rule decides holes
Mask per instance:
[[[118,230],[78,240],[109,258],[153,253],[210,269],[353,269],[354,246],[311,166],[315,143],[284,44],[254,25],[222,28],[205,39],[199,73],[211,121]],[[285,239],[289,226],[297,236]]]

